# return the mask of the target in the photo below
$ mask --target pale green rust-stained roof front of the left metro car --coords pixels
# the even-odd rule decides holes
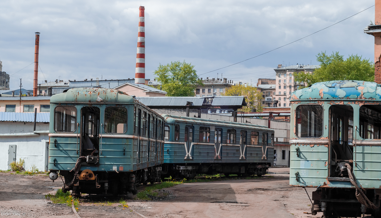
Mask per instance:
[[[110,88],[71,88],[51,96],[51,103],[121,103],[133,104],[133,97]]]

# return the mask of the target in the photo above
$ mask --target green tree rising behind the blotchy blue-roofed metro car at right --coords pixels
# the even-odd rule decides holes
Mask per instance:
[[[362,59],[362,56],[349,55],[344,60],[344,55],[332,52],[328,56],[325,52],[319,53],[316,60],[320,62],[320,68],[312,74],[298,72],[295,81],[304,82],[307,86],[316,82],[330,80],[363,80],[373,82],[375,79],[375,66],[370,59]]]

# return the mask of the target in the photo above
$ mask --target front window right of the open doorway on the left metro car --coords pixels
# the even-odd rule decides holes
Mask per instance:
[[[106,133],[125,133],[127,131],[127,109],[107,107],[104,110],[104,131]]]

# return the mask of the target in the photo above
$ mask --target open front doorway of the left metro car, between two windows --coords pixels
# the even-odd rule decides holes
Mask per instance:
[[[98,107],[82,107],[81,109],[81,156],[99,155],[99,117]],[[94,163],[97,158],[92,157]],[[90,161],[92,162],[92,161]]]

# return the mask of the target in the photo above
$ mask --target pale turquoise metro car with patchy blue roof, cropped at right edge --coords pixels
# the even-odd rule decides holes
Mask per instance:
[[[291,95],[290,185],[316,187],[313,215],[380,217],[381,85],[315,83]]]

